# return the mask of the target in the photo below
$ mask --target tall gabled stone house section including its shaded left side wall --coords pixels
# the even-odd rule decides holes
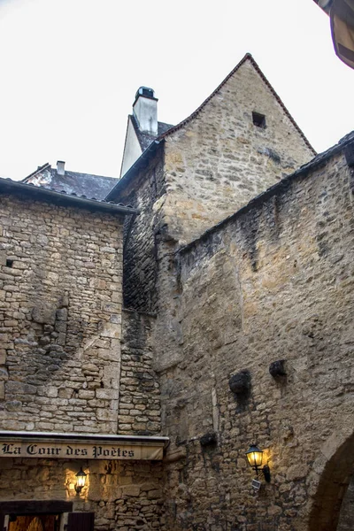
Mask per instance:
[[[266,116],[266,127],[254,125],[252,112]],[[192,119],[158,142],[108,196],[141,212],[125,253],[124,302],[142,312],[168,311],[157,300],[156,281],[176,245],[201,235],[314,155],[250,56]]]

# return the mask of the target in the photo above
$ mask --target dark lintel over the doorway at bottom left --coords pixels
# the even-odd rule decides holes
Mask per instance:
[[[61,514],[72,512],[73,502],[63,502],[61,500],[20,500],[11,502],[0,502],[0,529],[4,529],[4,517],[6,514]]]

